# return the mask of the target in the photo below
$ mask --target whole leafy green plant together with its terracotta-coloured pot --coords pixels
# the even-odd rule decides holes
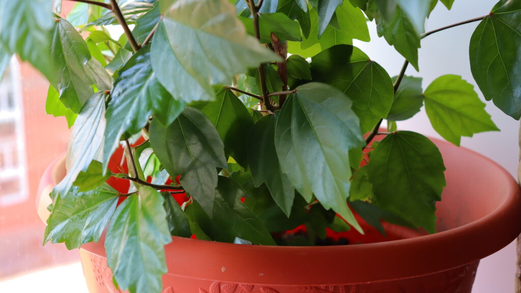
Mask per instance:
[[[421,39],[479,21],[473,76],[519,119],[521,1],[429,32],[453,1],[49,2],[1,3],[0,52],[72,126],[44,243],[82,248],[91,292],[470,292],[521,231],[516,182],[457,148],[498,130],[474,87],[405,76]],[[367,20],[398,76],[352,45]],[[424,104],[449,142],[396,129]]]

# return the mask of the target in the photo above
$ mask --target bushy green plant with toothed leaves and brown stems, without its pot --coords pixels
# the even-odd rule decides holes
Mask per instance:
[[[79,248],[106,230],[131,293],[162,290],[171,236],[320,245],[327,231],[364,233],[355,214],[382,233],[381,220],[435,233],[442,156],[396,121],[425,105],[456,145],[498,128],[460,76],[425,89],[405,76],[432,33],[479,22],[474,79],[521,115],[520,0],[429,32],[432,9],[454,0],[76,2],[65,14],[60,0],[0,0],[0,65],[30,62],[51,84],[47,113],[72,127],[44,243]],[[398,76],[352,45],[369,42],[369,21],[404,57]]]

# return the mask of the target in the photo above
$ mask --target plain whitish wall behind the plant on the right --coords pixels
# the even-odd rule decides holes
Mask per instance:
[[[496,2],[497,0],[456,0],[450,11],[438,3],[427,20],[426,30],[487,15]],[[470,72],[468,57],[470,36],[478,23],[452,28],[425,38],[421,42],[422,48],[419,50],[420,72],[416,72],[412,66],[409,66],[406,74],[423,77],[424,89],[439,76],[461,75],[463,79],[474,84],[481,99],[485,101]],[[361,48],[372,60],[382,65],[391,76],[398,75],[404,58],[396,53],[383,38],[378,38],[374,22],[370,23],[369,30],[371,44],[355,41],[355,46]],[[517,176],[519,123],[503,114],[492,102],[486,103],[487,112],[492,115],[492,120],[501,129],[501,132],[478,133],[473,138],[463,138],[462,146],[490,157],[513,176]],[[432,129],[424,109],[410,120],[399,121],[398,128],[440,137]],[[514,243],[483,259],[478,269],[473,293],[514,292],[515,261]]]

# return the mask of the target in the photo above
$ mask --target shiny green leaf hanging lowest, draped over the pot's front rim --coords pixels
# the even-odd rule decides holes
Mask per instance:
[[[107,263],[119,288],[160,293],[161,276],[167,272],[164,245],[171,241],[163,197],[140,187],[139,195],[132,194],[118,206],[105,239]]]

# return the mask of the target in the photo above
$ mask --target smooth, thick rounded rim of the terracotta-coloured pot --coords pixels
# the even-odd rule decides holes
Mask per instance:
[[[253,246],[172,236],[172,242],[165,246],[167,274],[270,285],[288,284],[288,280],[292,285],[303,286],[383,282],[450,270],[508,245],[521,233],[521,197],[515,179],[475,151],[431,140],[467,152],[499,173],[507,196],[497,209],[474,222],[436,234],[348,246]],[[57,163],[48,169],[60,167]],[[81,249],[105,258],[103,243],[104,236],[98,243],[86,243]],[[274,265],[277,271],[287,273],[270,274]]]

